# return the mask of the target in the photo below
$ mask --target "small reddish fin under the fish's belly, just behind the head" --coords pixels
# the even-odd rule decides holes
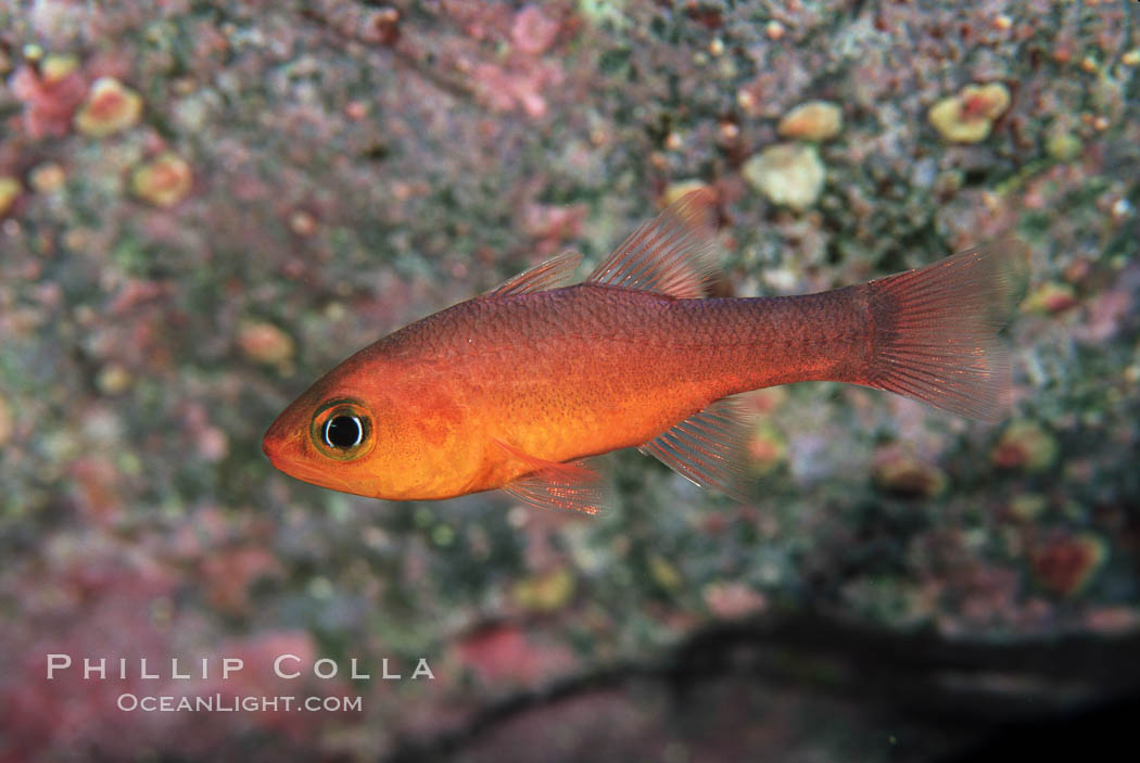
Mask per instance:
[[[598,515],[613,503],[608,485],[602,481],[597,459],[575,461],[546,461],[535,458],[502,440],[496,443],[515,458],[526,461],[534,470],[512,479],[504,492],[523,503],[555,511],[578,511]]]

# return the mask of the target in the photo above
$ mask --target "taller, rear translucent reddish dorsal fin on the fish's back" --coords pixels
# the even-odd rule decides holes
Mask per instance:
[[[586,279],[589,284],[702,297],[716,272],[715,197],[685,194],[635,230]]]

